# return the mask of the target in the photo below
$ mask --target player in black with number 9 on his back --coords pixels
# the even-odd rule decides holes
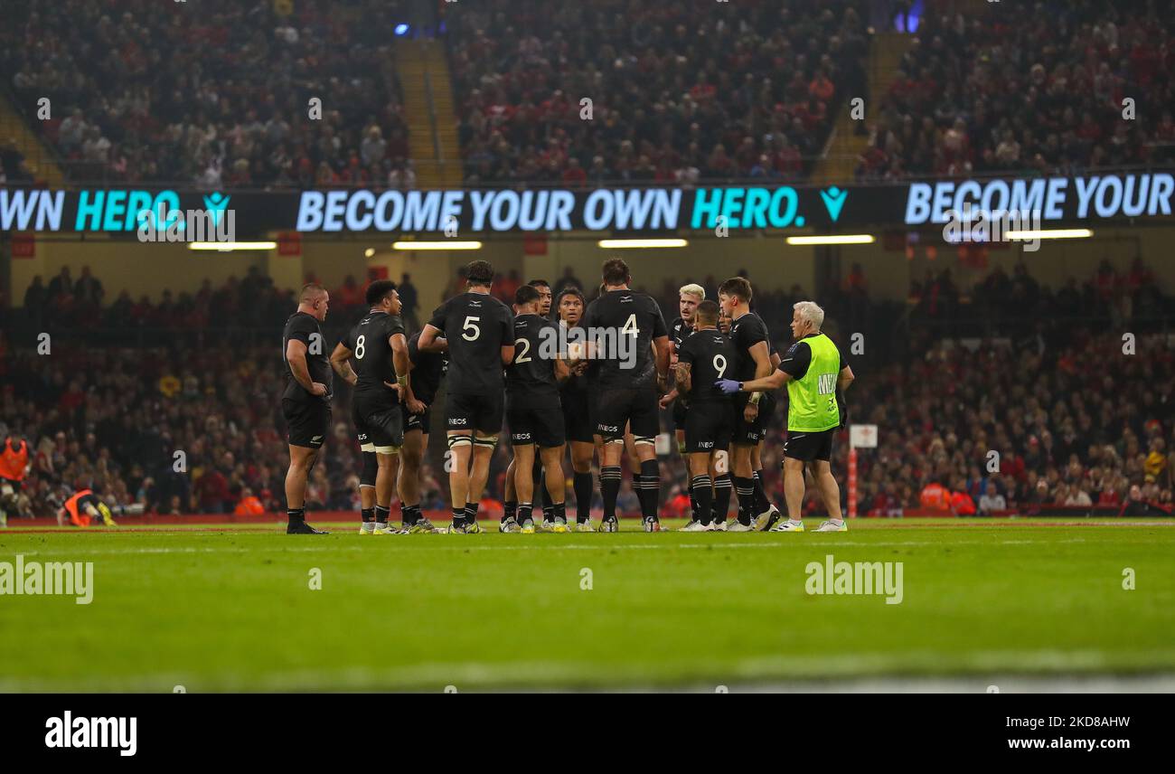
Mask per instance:
[[[738,352],[730,339],[718,332],[718,305],[698,305],[697,327],[678,349],[677,385],[690,396],[685,416],[685,452],[690,465],[690,488],[697,502],[693,520],[683,532],[712,532],[713,489],[710,471],[718,455],[726,454],[733,433],[732,400],[716,385],[731,368]]]

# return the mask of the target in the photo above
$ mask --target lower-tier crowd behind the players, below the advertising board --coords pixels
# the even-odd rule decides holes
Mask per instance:
[[[45,296],[26,296],[26,301],[41,299],[52,305],[62,294],[73,294],[101,307],[103,315],[118,303],[102,306],[102,283],[88,272],[78,280],[62,276],[46,286]],[[495,292],[503,296],[516,281],[509,273],[499,276]],[[553,285],[558,289],[564,283],[582,286],[570,269]],[[362,292],[355,294],[357,305],[348,303],[347,285],[333,292],[328,336],[337,336],[363,312]],[[677,316],[676,286],[666,282],[660,292],[646,288],[658,298],[666,321]],[[712,292],[717,283],[707,279],[705,286]],[[1069,286],[1085,299],[1082,323],[1055,313],[1058,299]],[[1022,265],[1013,278],[996,268],[972,288],[974,307],[985,319],[1013,320],[1018,335],[1006,335],[1007,331],[989,323],[994,333],[971,342],[941,335],[939,328],[926,325],[929,318],[914,319],[908,328],[895,331],[893,342],[904,346],[884,346],[882,355],[861,363],[857,368],[861,385],[848,399],[853,422],[875,423],[881,431],[878,449],[860,454],[861,513],[1026,512],[1058,505],[1123,514],[1170,512],[1175,487],[1170,331],[1140,333],[1133,354],[1126,354],[1117,333],[1121,328],[1104,325],[1115,314],[1132,320],[1139,308],[1147,308],[1141,299],[1152,295],[1166,319],[1175,319],[1175,299],[1157,293],[1156,287],[1141,261],[1121,273],[1106,263],[1080,286],[1072,280],[1060,289],[1041,286]],[[26,438],[33,462],[19,513],[49,515],[73,487],[89,482],[112,505],[139,503],[153,513],[258,508],[280,513],[288,461],[274,400],[282,388],[280,353],[268,343],[240,346],[209,338],[194,346],[170,336],[180,329],[199,334],[202,326],[224,325],[223,315],[230,314],[227,307],[241,313],[250,306],[243,299],[267,293],[273,296],[267,307],[271,315],[264,320],[269,328],[262,341],[268,341],[275,335],[274,321],[288,316],[294,303],[258,272],[228,280],[220,288],[206,282],[197,294],[203,300],[196,302],[193,296],[190,301],[207,306],[206,312],[215,311],[204,316],[176,316],[174,307],[167,307],[167,296],[159,303],[142,300],[136,305],[140,325],[157,326],[168,342],[164,346],[80,346],[66,336],[58,338],[53,356],[45,358],[34,349],[14,348],[0,332],[0,415],[5,418],[0,440],[9,434]],[[1015,300],[1021,294],[1032,302]],[[588,295],[595,292],[589,288]],[[845,341],[845,332],[854,329],[846,320],[859,313],[854,309],[860,305],[870,305],[860,267],[850,272],[839,292],[830,288],[827,296],[826,331]],[[790,343],[786,312],[800,298],[804,292],[798,287],[757,288],[754,306],[779,349]],[[1106,299],[1104,308],[1096,306],[1099,299]],[[925,298],[912,303],[924,308]],[[1032,311],[1027,322],[1014,315],[1018,303]],[[36,308],[26,306],[9,314],[27,318]],[[110,320],[101,319],[103,325]],[[311,509],[356,507],[361,462],[349,427],[348,400],[345,385],[336,382],[335,433],[328,441],[325,465],[311,479]],[[771,493],[780,492],[784,411],[777,408],[763,453]],[[667,418],[663,427],[669,427]],[[844,472],[847,436],[834,449],[834,469]],[[175,468],[176,451],[184,453],[186,471]],[[999,456],[992,458],[991,452]],[[506,447],[499,445],[488,509],[501,496],[508,461]],[[663,458],[660,465],[662,479],[674,482],[664,496],[666,513],[674,515],[689,502],[680,493],[684,471],[676,455]],[[427,506],[444,506],[444,489],[431,467],[425,471],[423,492]],[[820,512],[822,506],[813,498],[806,507]],[[619,503],[636,509],[627,478]]]

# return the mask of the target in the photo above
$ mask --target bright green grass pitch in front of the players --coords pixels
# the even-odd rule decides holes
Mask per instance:
[[[1170,520],[868,520],[837,534],[645,534],[636,522],[612,535],[334,528],[325,538],[268,527],[0,531],[0,561],[93,561],[95,575],[88,606],[0,596],[0,690],[1175,670]],[[904,562],[904,601],[806,594],[805,566],[830,553]],[[1122,588],[1127,567],[1135,590]],[[311,568],[321,590],[309,588]],[[591,590],[580,589],[582,568]]]

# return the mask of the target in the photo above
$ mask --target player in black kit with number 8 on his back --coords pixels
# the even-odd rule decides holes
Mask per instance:
[[[395,282],[371,282],[367,303],[367,315],[335,346],[330,366],[355,387],[351,421],[363,453],[360,534],[390,535],[396,533],[388,522],[400,447],[404,445],[398,393],[408,385],[408,340],[400,319],[401,302]],[[355,359],[354,369],[351,358]]]

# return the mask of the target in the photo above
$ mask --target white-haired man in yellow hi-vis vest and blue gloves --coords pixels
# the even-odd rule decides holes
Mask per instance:
[[[723,392],[761,392],[787,385],[787,441],[784,443],[784,496],[787,521],[772,532],[804,532],[800,511],[804,505],[804,463],[815,466],[815,482],[828,508],[828,521],[817,532],[846,532],[840,513],[840,487],[832,476],[832,436],[842,425],[841,395],[853,381],[853,369],[845,362],[832,339],[820,333],[824,309],[812,301],[800,301],[792,315],[795,343],[770,376],[752,381],[721,379]]]

